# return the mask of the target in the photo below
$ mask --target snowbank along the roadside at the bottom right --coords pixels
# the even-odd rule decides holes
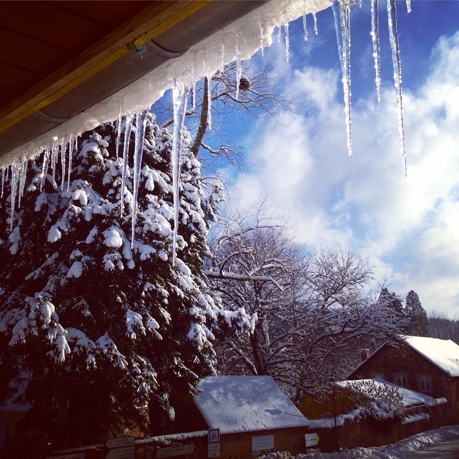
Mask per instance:
[[[459,437],[459,425],[452,425],[417,433],[397,443],[378,448],[345,449],[344,451],[335,453],[313,453],[311,451],[311,454],[297,454],[296,457],[288,452],[276,452],[262,457],[265,459],[292,459],[294,457],[295,459],[308,459],[309,457],[314,457],[314,459],[354,459],[359,457],[370,459],[400,459],[401,457],[409,456],[414,451],[424,449],[426,446],[457,437]]]

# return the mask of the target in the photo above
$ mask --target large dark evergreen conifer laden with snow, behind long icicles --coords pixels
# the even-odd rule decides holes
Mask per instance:
[[[20,430],[40,426],[54,447],[105,441],[115,427],[147,431],[139,408],[148,404],[150,421],[167,428],[172,392],[191,397],[199,378],[214,372],[216,319],[247,321],[241,311],[223,312],[207,291],[201,265],[223,193],[218,184],[203,188],[185,137],[175,267],[172,135],[152,114],[133,249],[133,169],[120,218],[116,125],[101,124],[79,139],[68,190],[66,175],[56,172],[55,183],[50,169],[42,177],[41,158],[30,162],[12,231],[11,195],[0,201],[0,403],[11,395],[9,382],[24,378],[32,407]]]

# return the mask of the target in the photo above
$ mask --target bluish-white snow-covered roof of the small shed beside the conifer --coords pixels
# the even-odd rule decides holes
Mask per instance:
[[[271,376],[210,376],[198,389],[194,403],[222,434],[309,425]]]

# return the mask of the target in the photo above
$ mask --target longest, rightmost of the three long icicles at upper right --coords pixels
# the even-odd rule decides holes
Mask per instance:
[[[395,96],[398,107],[398,132],[400,134],[400,147],[402,154],[403,173],[406,177],[406,151],[405,151],[405,132],[403,126],[403,97],[401,87],[401,64],[400,64],[400,49],[398,46],[397,34],[397,12],[395,8],[395,0],[387,0],[387,16],[389,23],[389,38],[392,47],[392,63],[394,64],[394,84]]]

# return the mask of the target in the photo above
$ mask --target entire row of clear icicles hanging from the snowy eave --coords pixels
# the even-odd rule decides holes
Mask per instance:
[[[351,142],[351,90],[350,90],[350,6],[356,3],[356,0],[332,0],[331,7],[335,17],[335,27],[338,42],[338,51],[341,63],[341,70],[343,73],[343,89],[344,89],[344,106],[345,106],[345,118],[346,118],[346,131],[347,131],[347,147],[349,156],[352,155],[352,142]],[[362,6],[362,0],[359,0],[360,6]],[[406,0],[406,6],[408,12],[411,12],[411,0]],[[406,154],[405,154],[405,140],[404,140],[404,128],[403,128],[403,101],[402,101],[402,88],[401,88],[401,66],[400,66],[400,55],[398,47],[398,35],[397,35],[397,19],[396,19],[396,7],[395,0],[387,0],[387,12],[389,19],[389,37],[392,47],[392,61],[394,66],[394,82],[395,91],[398,107],[398,126],[401,142],[403,171],[406,176]],[[313,13],[314,18],[314,31],[317,35],[317,17]],[[306,22],[306,14],[303,14],[303,28],[304,28],[304,40],[308,40],[308,29]],[[264,35],[265,30],[263,25],[259,25],[260,29],[260,49],[262,55],[264,55]],[[286,41],[286,58],[289,61],[289,24],[284,24],[285,30],[285,41]],[[278,41],[281,41],[282,28],[279,27]],[[378,0],[371,0],[371,37],[373,43],[373,56],[374,66],[376,71],[376,92],[378,102],[381,101],[381,83],[380,83],[380,63],[379,63],[379,30],[378,30]],[[240,33],[236,32],[235,37],[235,55],[236,55],[236,99],[239,99],[239,86],[242,75],[242,63],[241,63],[241,52],[240,52]],[[196,62],[191,66],[191,103],[192,110],[196,108]],[[203,62],[204,72],[207,74],[208,79],[208,127],[212,127],[212,76],[209,66],[206,66],[206,62]],[[220,74],[224,71],[224,45],[220,46]],[[188,100],[189,88],[188,85],[184,85],[181,82],[174,81],[173,86],[173,117],[174,117],[174,128],[173,128],[173,143],[172,143],[172,186],[173,186],[173,208],[174,208],[174,228],[173,228],[173,259],[172,263],[175,265],[176,259],[176,245],[177,245],[177,228],[179,225],[179,188],[180,188],[180,164],[181,164],[181,151],[182,151],[182,139],[183,130],[185,127],[185,113]],[[116,137],[116,159],[119,157],[119,146],[120,136],[123,125],[122,116],[122,100],[119,103],[117,126],[118,132]],[[143,143],[145,136],[145,127],[147,121],[148,110],[141,110],[136,113],[136,136],[135,136],[135,147],[134,147],[134,177],[133,177],[133,209],[132,209],[132,227],[131,227],[131,248],[134,248],[134,234],[135,234],[135,223],[137,213],[137,198],[138,189],[140,183],[140,170],[142,164],[143,154]],[[123,200],[125,193],[125,177],[127,170],[127,160],[129,156],[129,143],[132,131],[132,125],[134,121],[134,115],[127,113],[124,117],[124,145],[123,145],[123,158],[122,158],[122,172],[121,172],[121,193],[120,193],[120,217],[123,217]],[[48,171],[49,163],[52,168],[53,184],[55,188],[58,188],[55,182],[56,166],[59,159],[59,153],[61,154],[61,165],[62,165],[62,180],[60,189],[63,191],[65,182],[67,182],[67,189],[70,186],[70,174],[72,165],[73,150],[77,148],[79,135],[71,134],[67,139],[63,138],[60,143],[57,142],[57,138],[54,138],[54,143],[45,148],[43,151],[43,165],[40,182],[40,191],[42,190],[43,183],[45,180],[46,173]],[[68,144],[68,165],[66,166],[66,151]],[[37,151],[38,155],[38,151]],[[10,230],[13,228],[13,219],[15,212],[16,198],[18,201],[18,207],[21,205],[21,198],[24,194],[25,187],[25,176],[27,174],[29,160],[27,157],[15,160],[11,164],[11,216],[10,216]],[[2,197],[4,193],[5,182],[8,177],[9,168],[0,170],[2,175]]]

